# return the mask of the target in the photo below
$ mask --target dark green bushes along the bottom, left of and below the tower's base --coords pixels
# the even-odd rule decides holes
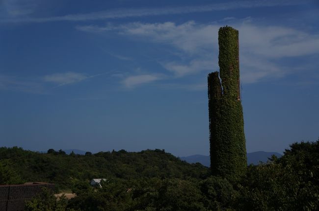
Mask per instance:
[[[86,190],[86,188],[84,188]],[[68,208],[82,211],[222,211],[233,210],[238,196],[226,180],[150,178],[113,179],[102,188],[80,191]]]

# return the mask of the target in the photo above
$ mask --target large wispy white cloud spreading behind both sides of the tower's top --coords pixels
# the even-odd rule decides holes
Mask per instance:
[[[241,79],[255,83],[263,78],[278,78],[289,73],[279,59],[319,53],[319,34],[310,34],[286,26],[256,25],[253,22],[234,21],[239,29]],[[115,31],[142,42],[154,42],[174,47],[183,57],[181,61],[164,61],[160,64],[176,77],[200,71],[218,70],[219,24],[201,24],[189,21],[182,24],[127,23],[118,26],[94,26],[92,32]]]

